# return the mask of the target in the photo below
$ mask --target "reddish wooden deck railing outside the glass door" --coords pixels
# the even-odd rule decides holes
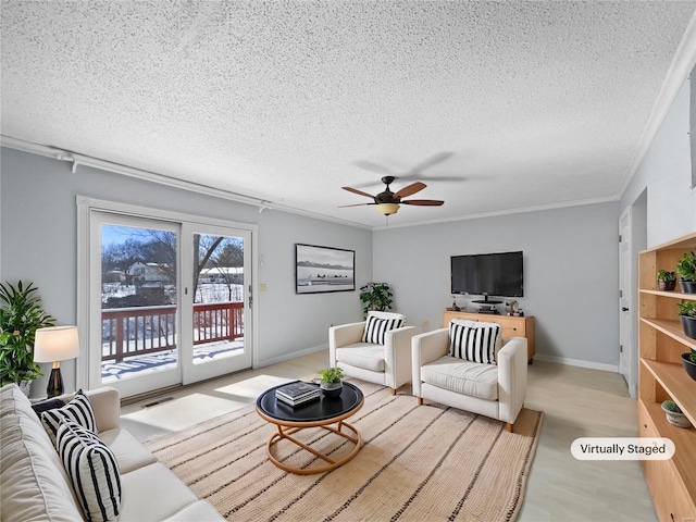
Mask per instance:
[[[101,311],[102,361],[176,349],[176,304]],[[244,337],[244,302],[194,304],[194,345]]]

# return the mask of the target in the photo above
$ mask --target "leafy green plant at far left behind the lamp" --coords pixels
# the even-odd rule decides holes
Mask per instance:
[[[27,396],[32,381],[44,375],[34,362],[36,331],[55,321],[41,308],[37,291],[33,283],[0,284],[0,381],[2,385],[16,383]]]

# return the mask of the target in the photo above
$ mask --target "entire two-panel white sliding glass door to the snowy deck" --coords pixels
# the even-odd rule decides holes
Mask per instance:
[[[251,368],[250,231],[92,211],[89,244],[89,387]]]

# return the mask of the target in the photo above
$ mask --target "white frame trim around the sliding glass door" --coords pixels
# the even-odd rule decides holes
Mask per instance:
[[[87,196],[76,197],[77,206],[77,328],[79,331],[80,343],[79,356],[76,361],[75,380],[77,389],[87,388],[89,383],[89,336],[90,336],[90,281],[89,281],[89,257],[91,250],[90,237],[90,214],[92,211],[110,212],[115,214],[124,214],[134,217],[151,219],[157,221],[169,221],[173,223],[198,223],[201,225],[222,226],[229,228],[240,228],[251,234],[251,261],[250,261],[250,283],[251,289],[258,288],[258,236],[259,226],[249,223],[240,223],[216,217],[206,217],[195,214],[186,214],[183,212],[172,212],[150,207],[140,207],[137,204],[122,203],[117,201],[109,201],[103,199],[90,198]],[[248,306],[248,302],[247,302]],[[253,299],[250,306],[251,327],[249,331],[249,339],[245,338],[245,346],[251,350],[251,368],[258,366],[258,321],[257,318],[258,300]],[[246,328],[246,326],[245,326]],[[247,331],[245,330],[245,335]]]

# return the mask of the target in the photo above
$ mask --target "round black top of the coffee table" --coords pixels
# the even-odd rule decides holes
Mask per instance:
[[[275,390],[285,386],[285,384],[266,389],[259,396],[257,399],[257,409],[261,413],[278,421],[326,421],[349,413],[357,409],[363,400],[360,388],[344,382],[344,389],[338,397],[325,398],[321,396],[319,400],[293,407],[275,398]],[[319,387],[319,385],[315,386]]]

